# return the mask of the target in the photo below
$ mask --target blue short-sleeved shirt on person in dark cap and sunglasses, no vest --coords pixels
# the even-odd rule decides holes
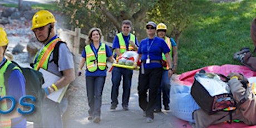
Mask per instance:
[[[154,40],[154,41],[153,41]],[[149,43],[149,44],[147,44]],[[151,47],[150,47],[151,46]],[[153,39],[145,38],[140,42],[139,50],[137,51],[138,54],[141,54],[141,61],[146,61],[148,50],[149,49],[149,58],[150,61],[152,60],[162,60],[162,53],[170,52],[170,48],[166,44],[165,40],[160,37],[155,37]],[[162,67],[161,63],[145,63],[144,68],[157,68]]]

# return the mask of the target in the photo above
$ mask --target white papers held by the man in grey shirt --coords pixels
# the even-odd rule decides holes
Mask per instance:
[[[56,81],[60,80],[59,76],[57,76],[47,70],[44,70],[43,68],[40,68],[39,71],[43,74],[43,78],[45,79],[45,83],[42,85],[42,88],[51,86],[52,83],[55,83]],[[67,87],[68,87],[68,85],[58,89],[57,92],[50,93],[50,95],[48,95],[47,98],[52,101],[60,103],[66,90],[67,90]]]

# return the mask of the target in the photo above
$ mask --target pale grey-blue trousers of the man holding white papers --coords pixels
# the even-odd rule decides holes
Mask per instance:
[[[34,123],[34,127],[63,127],[62,115],[67,110],[68,100],[63,97],[60,103],[48,98],[43,100],[42,122]]]

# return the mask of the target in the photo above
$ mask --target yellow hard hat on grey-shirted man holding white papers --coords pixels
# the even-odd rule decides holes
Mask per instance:
[[[46,26],[49,23],[55,23],[55,17],[53,14],[46,10],[40,10],[36,12],[32,19],[32,27],[31,29],[39,28]]]

